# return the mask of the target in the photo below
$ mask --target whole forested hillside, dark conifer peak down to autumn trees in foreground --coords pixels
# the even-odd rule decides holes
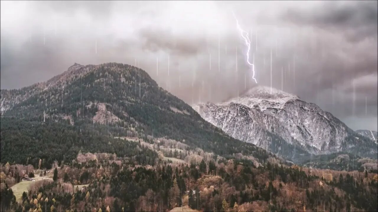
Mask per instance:
[[[290,166],[226,135],[133,66],[75,64],[1,95],[2,211],[378,208],[376,174]],[[271,147],[291,154],[279,139]],[[12,190],[33,173],[53,181]]]

